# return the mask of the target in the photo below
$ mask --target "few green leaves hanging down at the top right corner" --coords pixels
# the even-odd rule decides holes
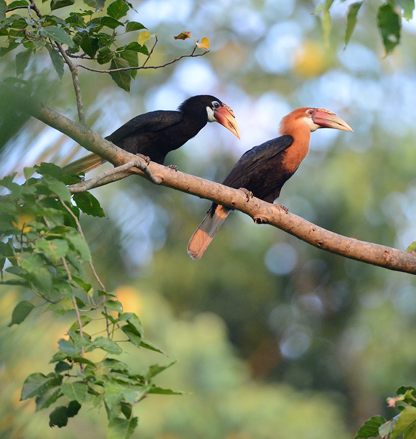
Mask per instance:
[[[343,2],[345,0],[342,0]],[[357,23],[358,12],[363,5],[363,1],[355,2],[349,5],[347,14],[347,24],[345,31],[345,46],[354,32]],[[370,3],[370,2],[368,2]],[[315,10],[315,14],[322,13],[322,27],[324,31],[324,39],[329,42],[331,32],[331,15],[330,8],[333,6],[334,0],[325,0],[321,2]],[[387,0],[383,2],[377,11],[377,27],[380,31],[383,46],[386,54],[393,51],[399,44],[401,36],[401,20],[402,18],[410,20],[413,15],[414,0]]]

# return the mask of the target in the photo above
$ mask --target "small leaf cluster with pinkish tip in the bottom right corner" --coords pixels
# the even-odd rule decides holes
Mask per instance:
[[[411,386],[401,386],[396,396],[387,399],[389,407],[396,407],[400,413],[390,420],[383,416],[372,416],[357,431],[354,439],[382,437],[403,439],[416,437],[416,389]]]

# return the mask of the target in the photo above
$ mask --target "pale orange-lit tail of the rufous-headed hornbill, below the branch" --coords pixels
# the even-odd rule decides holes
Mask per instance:
[[[230,212],[231,209],[221,205],[216,206],[214,214],[212,213],[212,208],[209,210],[189,240],[188,253],[192,259],[200,259],[202,257],[206,247],[209,246]]]

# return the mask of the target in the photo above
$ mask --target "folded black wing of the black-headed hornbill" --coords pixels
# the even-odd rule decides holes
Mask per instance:
[[[106,137],[107,140],[115,143],[121,139],[140,133],[163,130],[177,124],[183,118],[182,112],[158,110],[136,116],[126,122],[119,129]]]

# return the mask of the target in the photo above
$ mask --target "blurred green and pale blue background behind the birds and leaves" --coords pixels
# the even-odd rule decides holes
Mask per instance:
[[[291,109],[329,108],[354,134],[314,133],[279,201],[334,232],[405,249],[416,240],[416,21],[403,22],[400,45],[384,58],[379,3],[366,2],[344,50],[350,3],[334,4],[325,47],[320,17],[311,15],[317,2],[134,1],[131,19],[158,32],[154,65],[192,50],[190,40],[173,39],[184,30],[209,37],[212,50],[139,72],[130,94],[108,75],[81,71],[88,122],[108,135],[137,114],[213,94],[233,108],[242,140],[209,124],[166,164],[222,181],[242,152],[276,137]],[[5,76],[15,74],[14,57],[2,59]],[[76,118],[70,74],[61,84],[47,53],[32,57],[24,79]],[[2,175],[85,153],[36,120],[2,129]],[[134,437],[343,439],[372,415],[392,417],[386,397],[416,382],[410,275],[326,253],[239,212],[192,261],[186,245],[209,201],[134,177],[93,193],[107,217],[83,228],[99,274],[125,311],[138,313],[146,338],[178,358],[158,383],[189,393],[138,404]],[[16,303],[30,297],[12,288],[0,295],[0,436],[103,437],[104,409],[83,408],[67,427],[50,429],[47,410],[19,402],[29,373],[52,370],[46,361],[73,320],[39,311],[6,327]],[[135,350],[123,360],[138,372],[165,361]]]

